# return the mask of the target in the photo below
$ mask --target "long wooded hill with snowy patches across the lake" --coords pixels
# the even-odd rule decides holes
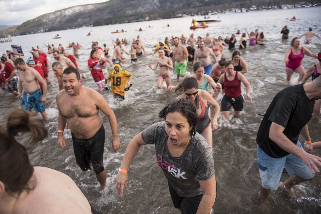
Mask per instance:
[[[320,5],[317,0],[110,0],[43,14],[21,25],[0,30],[0,37],[108,24],[175,18],[185,15],[208,15],[224,11],[278,9],[284,4]],[[253,7],[255,5],[255,7]],[[304,5],[303,5],[304,6]]]

